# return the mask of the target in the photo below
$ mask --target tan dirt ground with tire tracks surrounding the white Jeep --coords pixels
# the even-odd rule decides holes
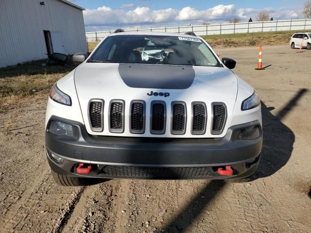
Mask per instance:
[[[217,49],[262,100],[264,145],[249,183],[109,180],[54,183],[44,149],[46,100],[0,112],[0,232],[311,232],[311,50]],[[16,129],[31,126],[23,129]],[[12,130],[14,129],[14,130]]]

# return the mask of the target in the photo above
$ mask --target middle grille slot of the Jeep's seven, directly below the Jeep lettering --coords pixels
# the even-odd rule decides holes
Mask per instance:
[[[151,133],[163,134],[165,133],[166,123],[166,109],[164,102],[152,102],[151,112]]]

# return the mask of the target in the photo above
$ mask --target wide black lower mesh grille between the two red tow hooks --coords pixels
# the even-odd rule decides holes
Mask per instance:
[[[178,179],[210,177],[210,167],[143,167],[143,166],[104,166],[102,175],[111,177],[132,177],[149,179]]]

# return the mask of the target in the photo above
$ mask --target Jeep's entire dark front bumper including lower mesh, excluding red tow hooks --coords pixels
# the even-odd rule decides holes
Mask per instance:
[[[71,124],[73,137],[46,131],[46,149],[53,171],[76,177],[133,179],[243,178],[255,172],[262,148],[259,121],[230,127],[223,138],[137,138],[92,136],[83,124],[53,116]],[[237,140],[239,129],[259,125],[260,137]],[[58,164],[51,153],[64,159]],[[91,164],[87,175],[76,173],[79,163]],[[232,166],[232,176],[220,176],[217,168]]]

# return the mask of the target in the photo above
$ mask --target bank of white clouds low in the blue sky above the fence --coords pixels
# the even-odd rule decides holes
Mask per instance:
[[[168,8],[162,10],[151,10],[149,7],[136,7],[134,10],[124,10],[133,4],[121,6],[122,9],[112,9],[102,6],[97,9],[86,9],[84,12],[86,27],[107,27],[107,26],[133,26],[151,24],[172,24],[181,22],[226,22],[233,18],[248,20],[252,17],[256,19],[260,9],[240,8],[235,5],[217,5],[205,10],[197,10],[187,6],[181,10]],[[261,9],[262,10],[262,9]],[[273,9],[266,8],[270,17],[276,19],[297,18],[301,9]]]

